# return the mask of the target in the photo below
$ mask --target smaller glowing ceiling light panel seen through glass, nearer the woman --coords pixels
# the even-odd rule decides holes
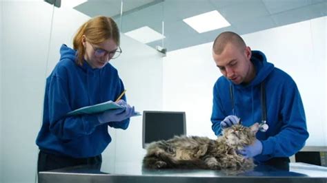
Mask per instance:
[[[132,39],[136,39],[141,43],[150,43],[152,41],[165,38],[164,35],[152,30],[152,28],[149,28],[148,26],[144,26],[130,32],[125,32],[125,34],[126,36],[130,36]]]

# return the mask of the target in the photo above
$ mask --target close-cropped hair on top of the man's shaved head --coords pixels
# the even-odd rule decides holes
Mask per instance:
[[[236,34],[235,32],[222,32],[215,39],[215,42],[212,45],[212,51],[215,54],[221,54],[228,43],[235,45],[239,50],[246,48],[246,43],[239,34]]]

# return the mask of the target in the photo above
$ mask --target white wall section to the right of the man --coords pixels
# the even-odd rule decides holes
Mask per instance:
[[[244,35],[275,67],[290,74],[299,88],[310,137],[307,146],[327,146],[326,19],[321,17]]]

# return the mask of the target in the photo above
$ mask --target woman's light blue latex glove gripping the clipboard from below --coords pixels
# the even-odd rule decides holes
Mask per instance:
[[[130,105],[128,105],[123,100],[122,100],[123,102],[122,101],[119,102],[119,101],[117,103],[125,107],[125,109],[108,110],[99,114],[98,119],[101,124],[106,122],[123,121],[133,116],[133,114],[135,114],[134,107],[130,107]]]

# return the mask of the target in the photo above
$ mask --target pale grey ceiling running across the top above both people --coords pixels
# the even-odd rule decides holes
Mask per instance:
[[[166,38],[148,45],[162,45],[168,52],[208,43],[223,31],[248,34],[281,25],[306,21],[327,15],[327,0],[88,0],[76,10],[90,17],[114,17],[121,32],[148,26],[157,32],[164,30]],[[218,10],[230,27],[197,33],[183,19]],[[164,29],[163,22],[164,21]]]

